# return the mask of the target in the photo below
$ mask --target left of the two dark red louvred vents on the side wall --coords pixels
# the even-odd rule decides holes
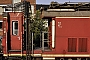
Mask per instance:
[[[76,52],[77,38],[68,38],[68,52]]]

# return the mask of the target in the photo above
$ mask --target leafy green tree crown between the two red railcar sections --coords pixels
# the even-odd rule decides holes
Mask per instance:
[[[32,32],[41,32],[41,31],[46,31],[46,28],[45,28],[45,21],[43,19],[40,18],[40,11],[37,10],[36,11],[36,15],[35,15],[35,18],[32,22]]]

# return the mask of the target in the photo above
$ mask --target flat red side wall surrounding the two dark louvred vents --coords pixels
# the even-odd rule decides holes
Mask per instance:
[[[56,51],[60,54],[90,53],[90,18],[56,18]],[[69,38],[76,38],[76,51],[68,51]],[[87,51],[79,52],[79,38],[87,38]],[[71,42],[72,43],[72,42]],[[73,43],[75,44],[75,42]],[[85,44],[84,44],[85,45]],[[82,46],[84,46],[82,45]],[[72,46],[74,47],[74,46]]]

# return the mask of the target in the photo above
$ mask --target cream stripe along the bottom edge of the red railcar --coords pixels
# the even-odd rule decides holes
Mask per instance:
[[[3,56],[21,56],[21,54],[3,54]],[[22,54],[26,56],[26,54]],[[31,54],[34,57],[90,57],[90,54]],[[44,58],[45,59],[45,58]],[[46,58],[47,59],[47,58]],[[51,58],[50,58],[51,59]]]

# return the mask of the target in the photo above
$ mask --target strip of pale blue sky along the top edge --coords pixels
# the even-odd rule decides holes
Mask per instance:
[[[56,1],[58,3],[64,3],[64,2],[90,2],[90,0],[36,0],[36,4],[50,4],[51,1]]]

